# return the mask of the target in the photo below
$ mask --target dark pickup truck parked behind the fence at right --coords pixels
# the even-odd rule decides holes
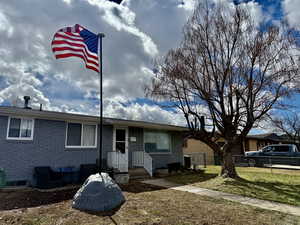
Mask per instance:
[[[245,153],[248,163],[254,166],[264,164],[300,165],[300,152],[294,144],[268,145],[259,151]]]

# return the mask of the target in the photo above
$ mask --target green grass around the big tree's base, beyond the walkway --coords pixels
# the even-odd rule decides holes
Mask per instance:
[[[300,206],[300,171],[237,167],[240,179],[219,177],[219,166],[202,173],[170,176],[169,181],[223,191],[247,197]]]

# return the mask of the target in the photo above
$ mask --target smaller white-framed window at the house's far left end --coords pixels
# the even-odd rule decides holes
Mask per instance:
[[[33,127],[33,119],[10,117],[8,120],[7,139],[32,140]]]

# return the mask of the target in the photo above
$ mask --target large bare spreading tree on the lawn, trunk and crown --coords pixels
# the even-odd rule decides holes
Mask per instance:
[[[158,63],[147,87],[148,96],[184,114],[190,138],[221,156],[224,177],[238,176],[233,149],[294,91],[298,49],[284,27],[258,27],[238,5],[199,3],[181,45]],[[211,129],[205,126],[205,111]],[[223,147],[217,136],[226,140]]]

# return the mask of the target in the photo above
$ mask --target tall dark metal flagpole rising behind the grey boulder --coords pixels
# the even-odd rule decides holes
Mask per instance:
[[[103,127],[103,82],[102,82],[102,72],[103,72],[103,66],[102,66],[102,38],[105,37],[103,33],[98,34],[99,37],[99,81],[100,81],[100,136],[99,136],[99,151],[98,151],[98,171],[101,173],[102,171],[102,127]]]

